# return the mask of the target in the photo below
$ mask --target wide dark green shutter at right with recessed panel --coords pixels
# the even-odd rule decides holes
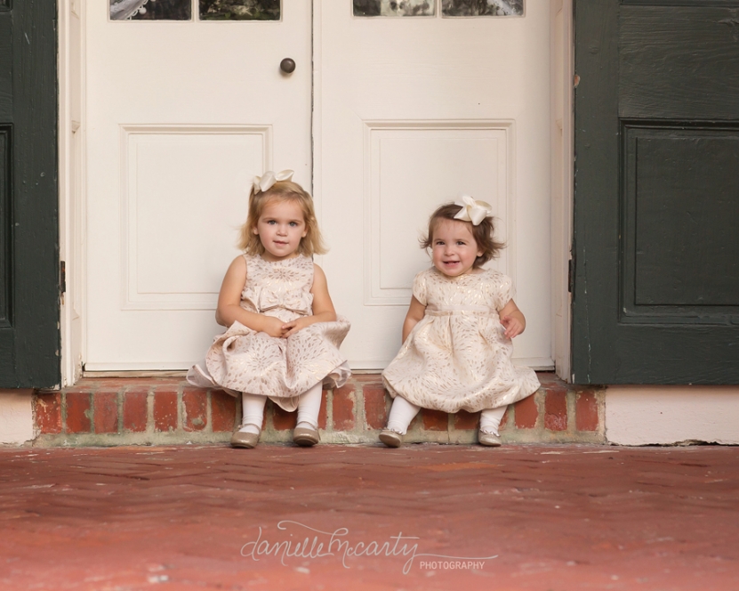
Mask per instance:
[[[577,0],[573,373],[739,384],[739,1]]]

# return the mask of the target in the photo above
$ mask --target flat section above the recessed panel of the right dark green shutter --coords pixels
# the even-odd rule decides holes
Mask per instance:
[[[727,8],[700,0],[623,4],[619,116],[736,120],[739,2],[724,3]]]

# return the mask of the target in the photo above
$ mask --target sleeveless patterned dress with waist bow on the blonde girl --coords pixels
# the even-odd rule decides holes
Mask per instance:
[[[244,255],[246,283],[241,307],[288,322],[312,312],[313,262],[298,255],[269,262]],[[297,408],[298,397],[322,382],[341,387],[351,375],[339,346],[349,332],[349,320],[316,322],[287,338],[256,332],[234,322],[205,355],[205,367],[196,365],[188,381],[200,387],[220,387],[269,396],[285,410]]]

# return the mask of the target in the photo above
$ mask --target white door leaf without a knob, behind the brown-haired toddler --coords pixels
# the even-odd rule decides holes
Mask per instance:
[[[465,19],[317,4],[316,191],[351,366],[384,368],[398,352],[414,275],[430,266],[418,238],[467,193],[494,206],[509,244],[492,265],[526,313],[515,360],[551,368],[549,4]]]

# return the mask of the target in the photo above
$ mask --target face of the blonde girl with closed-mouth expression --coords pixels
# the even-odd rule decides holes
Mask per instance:
[[[308,234],[300,203],[294,199],[269,199],[253,232],[264,247],[264,260],[291,258]]]

